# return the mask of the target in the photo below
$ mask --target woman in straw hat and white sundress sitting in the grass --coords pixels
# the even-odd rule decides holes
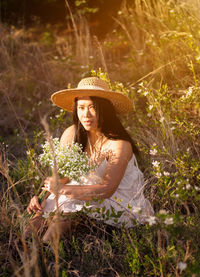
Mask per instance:
[[[59,220],[60,232],[64,233],[71,226],[71,214],[83,209],[88,201],[88,215],[105,223],[131,227],[133,219],[145,222],[153,214],[153,209],[143,195],[143,174],[136,161],[138,150],[117,117],[117,114],[132,110],[131,100],[119,92],[110,91],[103,80],[90,77],[81,80],[76,89],[54,93],[52,101],[73,112],[74,124],[64,131],[61,145],[82,144],[97,167],[95,178],[91,179],[89,175],[86,185],[73,185],[66,176],[59,180],[55,191],[53,178],[45,180],[43,189],[49,192],[49,197],[39,205],[34,196],[27,208],[29,213],[36,212],[33,219],[36,231],[41,225],[41,214],[59,207],[59,211],[67,215]],[[97,208],[101,212],[97,212]],[[57,225],[58,222],[51,222],[43,241],[52,239]]]

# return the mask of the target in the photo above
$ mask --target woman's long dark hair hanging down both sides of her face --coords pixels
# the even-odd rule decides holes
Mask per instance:
[[[138,156],[138,148],[117,117],[113,104],[105,98],[96,96],[90,96],[90,99],[95,106],[98,128],[100,128],[104,136],[108,139],[121,139],[129,141],[131,143],[133,153]],[[88,133],[78,119],[77,101],[78,98],[75,98],[73,109],[73,122],[76,126],[75,142],[82,144],[83,150],[85,150],[88,140]]]

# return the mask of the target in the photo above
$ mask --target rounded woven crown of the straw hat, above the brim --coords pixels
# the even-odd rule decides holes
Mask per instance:
[[[110,90],[108,84],[98,77],[88,77],[78,83],[78,89]]]

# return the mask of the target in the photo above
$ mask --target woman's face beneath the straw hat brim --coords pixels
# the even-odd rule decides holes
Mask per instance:
[[[97,115],[90,97],[81,97],[77,101],[78,119],[86,131],[96,131],[98,128]]]

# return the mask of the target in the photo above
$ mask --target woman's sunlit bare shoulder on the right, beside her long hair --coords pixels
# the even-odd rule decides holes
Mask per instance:
[[[128,160],[131,159],[133,155],[133,150],[131,143],[126,140],[109,140],[108,141],[108,150],[118,157],[123,157]]]

